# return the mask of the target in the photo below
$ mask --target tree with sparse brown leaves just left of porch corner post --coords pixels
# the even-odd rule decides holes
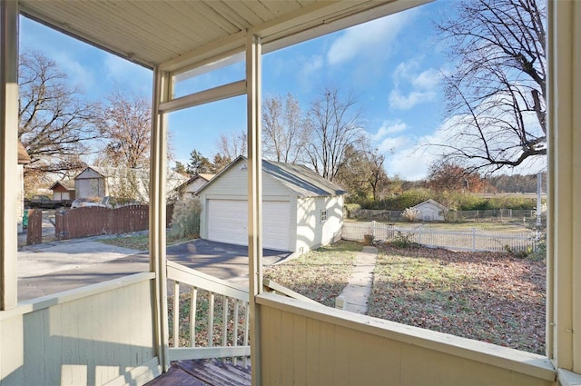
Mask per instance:
[[[102,110],[100,134],[104,148],[102,163],[130,169],[149,166],[151,105],[145,98],[116,90]]]

